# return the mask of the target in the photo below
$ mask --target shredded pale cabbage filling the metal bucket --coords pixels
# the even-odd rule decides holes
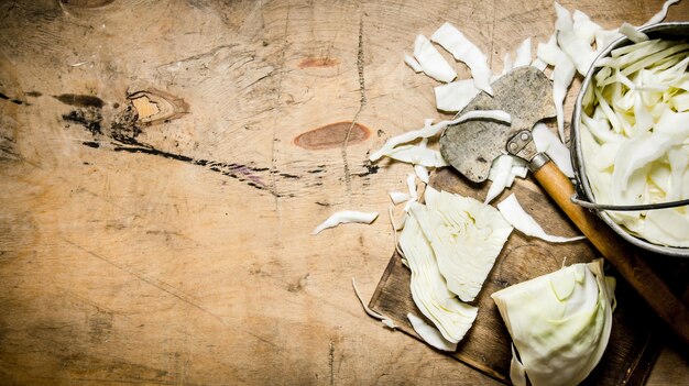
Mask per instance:
[[[644,40],[597,63],[582,103],[581,146],[595,201],[689,198],[689,44]],[[689,246],[689,208],[608,211],[649,242]]]

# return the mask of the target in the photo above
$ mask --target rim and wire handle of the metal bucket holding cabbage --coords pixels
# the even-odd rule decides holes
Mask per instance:
[[[650,38],[663,38],[663,40],[671,40],[671,41],[689,41],[689,22],[668,22],[668,23],[658,23],[652,24],[645,27],[638,29],[638,31],[645,33]],[[599,57],[595,59],[597,62],[603,57],[610,55],[610,53],[619,47],[633,44],[627,37],[622,37],[613,42],[608,48],[605,48]],[[581,111],[582,111],[582,100],[583,96],[589,87],[591,87],[591,79],[595,76],[600,67],[592,66],[589,69],[589,73],[583,79],[581,85],[581,90],[579,91],[579,96],[577,97],[577,101],[575,104],[575,110],[572,113],[572,126],[571,126],[571,135],[572,135],[572,164],[575,167],[575,177],[577,179],[577,196],[573,197],[572,201],[590,208],[594,211],[610,228],[612,228],[617,234],[627,240],[630,243],[645,249],[650,252],[669,255],[669,256],[680,256],[680,257],[689,257],[689,247],[676,247],[676,246],[667,246],[659,245],[652,242],[648,242],[644,239],[641,239],[617,224],[612,220],[612,218],[608,214],[606,210],[657,210],[660,208],[671,208],[678,207],[682,205],[688,205],[689,200],[683,201],[675,201],[675,202],[665,202],[659,205],[646,205],[646,206],[634,206],[634,207],[615,207],[609,205],[601,205],[595,202],[595,197],[593,196],[591,185],[589,184],[589,179],[587,177],[587,172],[584,168],[584,157],[581,148],[581,136],[580,136],[580,121],[581,121]]]

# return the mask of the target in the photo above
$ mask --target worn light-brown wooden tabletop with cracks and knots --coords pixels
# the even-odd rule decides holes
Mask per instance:
[[[562,4],[614,27],[663,1]],[[367,317],[350,283],[370,298],[394,245],[387,191],[409,172],[368,153],[447,117],[402,60],[445,21],[500,70],[555,11],[1,2],[0,384],[495,383]],[[382,214],[310,235],[344,209]],[[688,359],[667,343],[648,385],[686,383]]]

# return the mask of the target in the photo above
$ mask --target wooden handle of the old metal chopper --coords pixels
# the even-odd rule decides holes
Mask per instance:
[[[620,272],[675,332],[689,343],[689,310],[626,241],[598,216],[571,202],[575,186],[551,162],[534,172],[534,177],[575,222],[598,251]]]

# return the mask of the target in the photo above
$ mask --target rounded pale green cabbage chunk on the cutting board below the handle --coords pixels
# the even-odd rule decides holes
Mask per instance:
[[[602,260],[564,267],[491,297],[514,344],[510,377],[515,385],[526,385],[525,375],[534,386],[577,385],[605,351],[614,279],[603,275]]]

